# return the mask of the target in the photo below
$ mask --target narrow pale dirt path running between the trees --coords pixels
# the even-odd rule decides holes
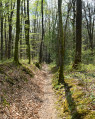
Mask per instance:
[[[48,70],[48,66],[44,65],[43,73],[45,75],[45,79],[43,80],[43,103],[39,110],[39,119],[58,119],[56,107],[55,107],[55,94],[52,89],[52,74]]]

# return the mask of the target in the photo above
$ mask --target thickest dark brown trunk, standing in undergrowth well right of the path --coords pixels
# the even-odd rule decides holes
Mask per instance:
[[[76,52],[74,60],[74,68],[81,63],[81,47],[82,47],[82,0],[76,3]]]

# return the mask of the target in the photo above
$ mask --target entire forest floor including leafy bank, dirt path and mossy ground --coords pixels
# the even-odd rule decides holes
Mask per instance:
[[[0,64],[0,119],[95,119],[95,66],[66,71],[66,85],[49,68]]]

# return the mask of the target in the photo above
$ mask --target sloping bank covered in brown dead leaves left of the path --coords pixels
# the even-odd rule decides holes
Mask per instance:
[[[0,65],[0,119],[38,119],[43,79],[34,65]]]

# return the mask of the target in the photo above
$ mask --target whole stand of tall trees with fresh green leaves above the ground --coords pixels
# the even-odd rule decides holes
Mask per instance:
[[[94,55],[94,4],[84,2],[82,8],[82,2],[0,0],[0,60],[55,62],[63,82],[66,65],[77,68],[89,49]]]

